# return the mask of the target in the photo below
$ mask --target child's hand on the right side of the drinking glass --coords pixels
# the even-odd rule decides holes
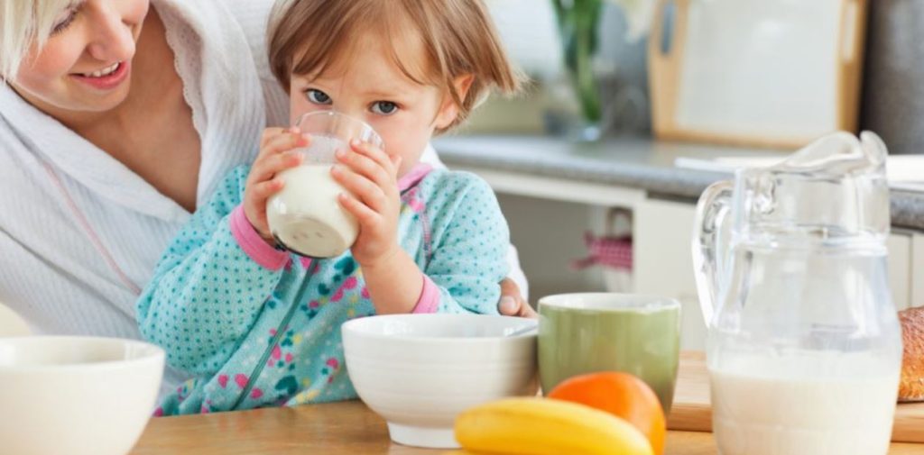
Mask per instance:
[[[397,173],[400,157],[389,157],[382,149],[358,140],[351,150],[337,150],[334,180],[356,195],[342,194],[340,204],[359,221],[359,237],[351,251],[360,266],[374,267],[395,255],[398,246]]]

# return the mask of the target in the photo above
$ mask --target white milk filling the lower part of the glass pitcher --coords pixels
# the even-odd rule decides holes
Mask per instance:
[[[875,354],[726,355],[722,361],[710,368],[713,432],[722,455],[888,452],[899,372]]]

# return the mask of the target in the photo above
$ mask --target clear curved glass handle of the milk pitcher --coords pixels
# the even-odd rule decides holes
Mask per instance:
[[[706,327],[712,325],[720,280],[727,271],[725,247],[727,239],[721,237],[725,216],[731,208],[732,181],[717,182],[706,188],[699,197],[696,223],[693,226],[693,269],[696,275],[699,307]]]

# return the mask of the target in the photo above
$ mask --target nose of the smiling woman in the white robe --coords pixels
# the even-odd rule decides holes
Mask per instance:
[[[118,8],[119,2],[100,2],[94,8],[91,42],[87,52],[101,62],[115,63],[130,60],[135,55],[134,29]]]

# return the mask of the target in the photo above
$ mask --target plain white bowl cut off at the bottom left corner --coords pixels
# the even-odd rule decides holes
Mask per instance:
[[[125,455],[163,373],[164,351],[141,341],[0,339],[0,452]]]

